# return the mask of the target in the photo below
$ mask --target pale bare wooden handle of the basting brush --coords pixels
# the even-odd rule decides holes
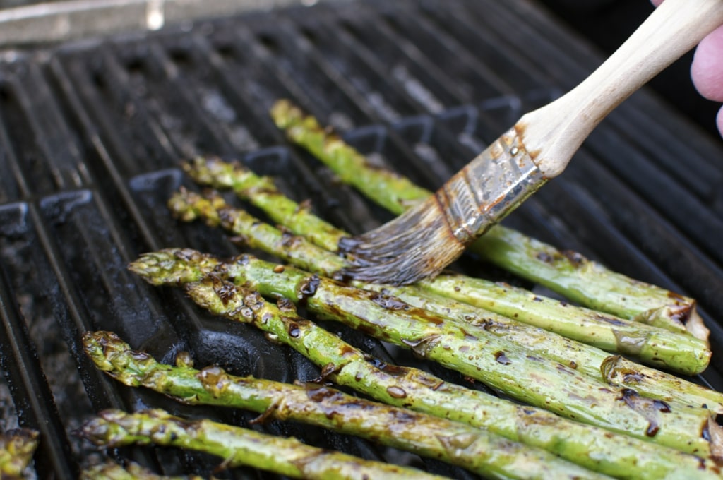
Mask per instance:
[[[580,85],[526,113],[515,127],[545,176],[561,173],[613,108],[722,24],[723,0],[665,0]]]

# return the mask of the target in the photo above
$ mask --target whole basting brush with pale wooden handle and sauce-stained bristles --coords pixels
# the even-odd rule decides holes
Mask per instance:
[[[666,0],[580,85],[526,113],[435,194],[339,247],[358,280],[433,277],[562,173],[607,114],[723,23],[723,0]]]

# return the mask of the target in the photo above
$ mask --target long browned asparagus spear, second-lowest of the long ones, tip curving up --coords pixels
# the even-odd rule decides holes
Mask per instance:
[[[241,297],[246,307],[263,308],[248,293]],[[219,367],[197,370],[187,365],[159,364],[108,332],[86,333],[83,343],[95,364],[116,380],[132,387],[149,387],[184,403],[244,408],[261,413],[264,420],[300,421],[333,429],[437,458],[488,478],[598,477],[545,450],[467,424],[362,400],[323,385],[234,377]]]

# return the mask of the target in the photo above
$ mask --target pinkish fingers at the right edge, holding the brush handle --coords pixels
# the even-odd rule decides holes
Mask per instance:
[[[663,0],[651,1],[656,7],[663,3]],[[703,38],[696,48],[693,64],[690,66],[690,77],[703,97],[723,102],[723,26]],[[723,136],[723,108],[718,111],[716,122],[718,131]]]

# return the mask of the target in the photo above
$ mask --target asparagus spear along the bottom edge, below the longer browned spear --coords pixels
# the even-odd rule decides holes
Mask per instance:
[[[82,429],[102,447],[161,445],[218,455],[224,468],[250,466],[300,479],[441,479],[414,468],[362,460],[322,450],[294,438],[268,434],[210,420],[186,420],[162,410],[100,412]]]

